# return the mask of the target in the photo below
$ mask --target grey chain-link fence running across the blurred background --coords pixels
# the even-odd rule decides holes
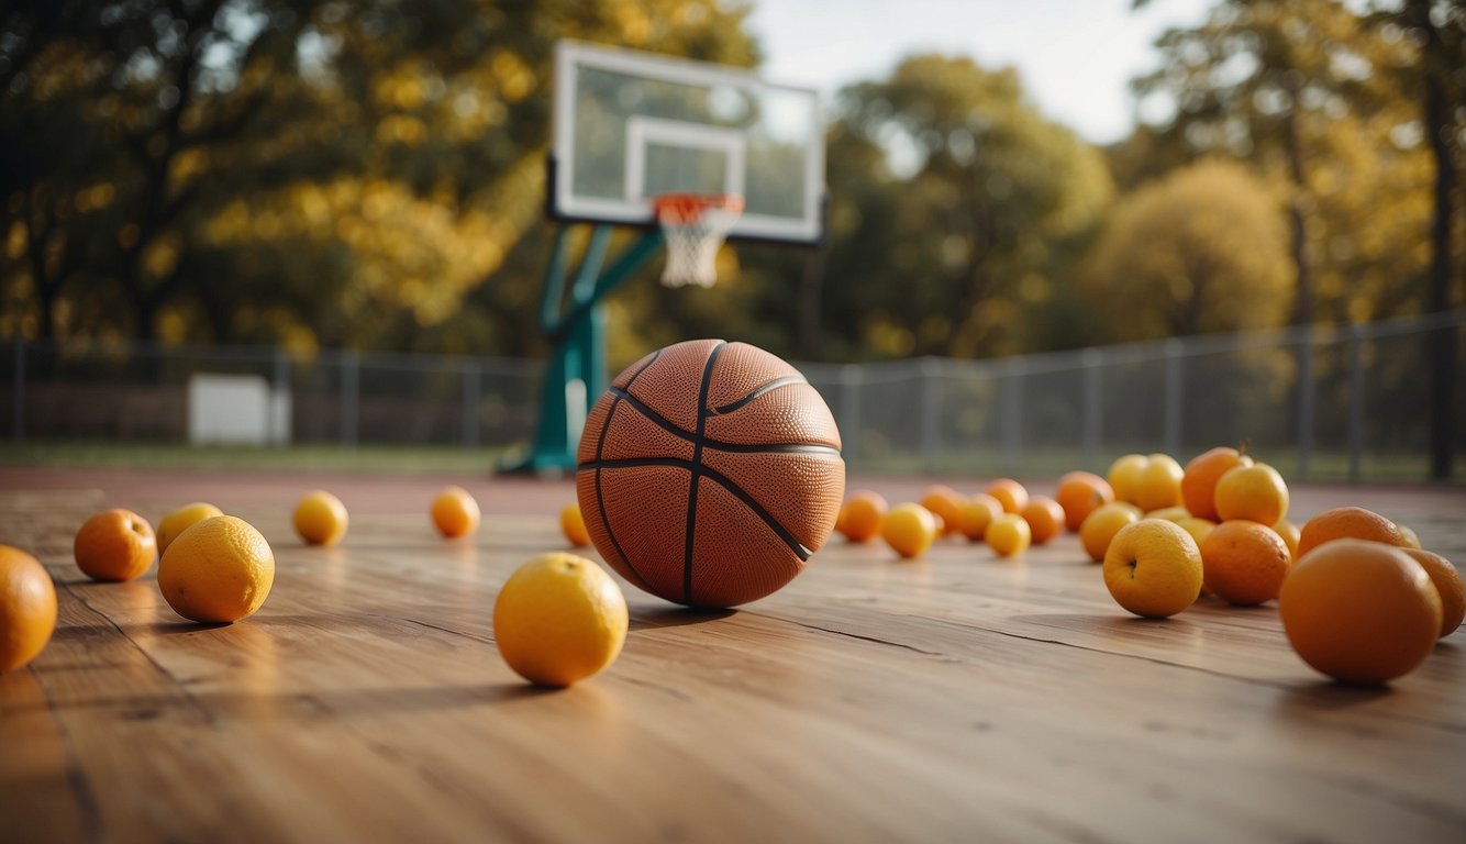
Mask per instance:
[[[1185,462],[1246,440],[1289,476],[1423,479],[1431,352],[1445,340],[1456,358],[1450,437],[1460,478],[1463,334],[1466,312],[1454,312],[1000,360],[800,369],[830,403],[846,460],[859,470],[1051,475],[1102,469],[1129,451]],[[267,443],[503,448],[532,438],[542,371],[538,360],[355,352],[299,359],[258,347],[15,341],[0,356],[0,407],[13,440],[198,441],[191,404],[213,384],[255,385]],[[232,413],[251,406],[239,400]]]

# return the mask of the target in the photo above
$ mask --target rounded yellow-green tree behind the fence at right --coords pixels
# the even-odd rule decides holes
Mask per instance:
[[[1123,196],[1082,278],[1114,340],[1277,325],[1290,303],[1287,226],[1252,171],[1204,161]]]

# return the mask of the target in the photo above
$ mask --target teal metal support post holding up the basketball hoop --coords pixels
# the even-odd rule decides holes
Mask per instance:
[[[529,454],[504,467],[506,472],[573,472],[575,450],[591,404],[607,388],[605,308],[603,300],[625,284],[661,249],[663,234],[652,229],[601,265],[611,240],[610,226],[591,232],[585,255],[566,300],[570,227],[556,233],[539,299],[539,328],[551,343],[539,390],[539,423]]]

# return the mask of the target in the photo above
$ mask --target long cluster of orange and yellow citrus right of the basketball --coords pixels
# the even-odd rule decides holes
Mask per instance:
[[[1217,447],[1185,467],[1167,454],[1126,454],[1105,478],[1064,475],[1053,498],[1012,479],[972,497],[937,485],[891,508],[863,491],[844,503],[836,529],[852,542],[880,535],[902,557],[919,557],[944,535],[1009,557],[1067,529],[1102,563],[1124,610],[1164,618],[1207,593],[1243,607],[1277,599],[1299,656],[1352,683],[1409,673],[1460,626],[1460,573],[1409,528],[1362,507],[1327,510],[1299,528],[1287,511],[1289,488],[1274,467]]]

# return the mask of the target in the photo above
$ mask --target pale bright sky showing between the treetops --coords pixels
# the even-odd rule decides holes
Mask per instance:
[[[1155,67],[1155,37],[1202,21],[1212,1],[1151,0],[1132,12],[1130,0],[752,0],[751,28],[767,79],[827,98],[918,51],[1013,64],[1044,114],[1108,144],[1130,132],[1127,82]]]

